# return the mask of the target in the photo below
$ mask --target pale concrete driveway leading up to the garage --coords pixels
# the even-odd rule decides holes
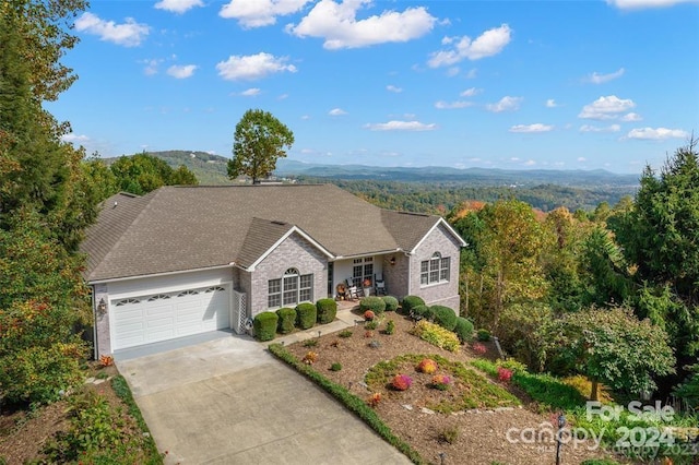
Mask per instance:
[[[246,336],[117,361],[166,464],[410,464]]]

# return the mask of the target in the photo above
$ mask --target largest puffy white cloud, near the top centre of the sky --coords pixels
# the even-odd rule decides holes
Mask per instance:
[[[330,50],[359,48],[384,43],[402,43],[430,32],[437,19],[424,7],[407,8],[403,12],[383,11],[357,20],[357,11],[370,0],[351,0],[336,3],[320,0],[298,25],[289,24],[286,31],[298,37],[321,37],[323,47]]]

